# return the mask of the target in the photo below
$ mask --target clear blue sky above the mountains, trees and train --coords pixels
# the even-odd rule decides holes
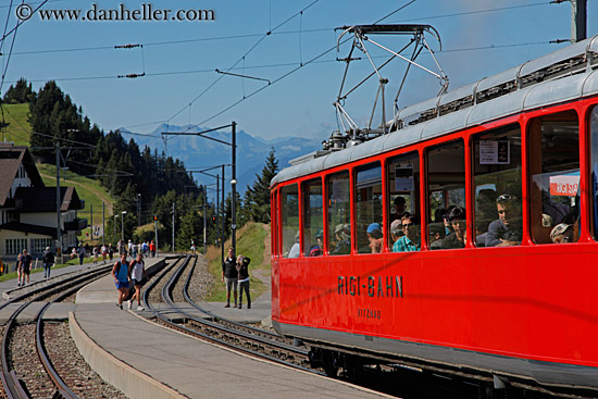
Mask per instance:
[[[37,7],[39,1],[29,4]],[[221,75],[214,70],[274,82],[301,63],[333,48],[335,27],[372,24],[409,1],[387,0],[155,0],[154,9],[214,10],[215,21],[198,22],[48,22],[32,16],[2,48],[5,70],[2,92],[25,77],[38,89],[48,79],[83,107],[84,113],[104,130],[126,127],[149,133],[162,123],[214,127],[236,121],[239,128],[264,138],[303,136],[325,139],[337,128],[335,101],[348,54],[347,45],[317,62],[300,67],[267,85],[264,80]],[[598,0],[588,0],[588,36],[598,34]],[[124,4],[140,9],[141,1],[97,1],[100,9]],[[10,30],[16,23],[14,7],[0,2],[0,21]],[[91,0],[50,0],[43,10],[91,9]],[[495,10],[495,11],[490,11]],[[302,12],[301,12],[302,11]],[[454,89],[498,73],[565,45],[550,45],[571,35],[571,4],[539,0],[416,0],[382,23],[419,23],[434,26],[443,40],[437,58]],[[264,36],[269,30],[272,35]],[[406,39],[381,38],[398,49]],[[438,49],[432,38],[431,45]],[[114,49],[119,45],[141,48]],[[257,46],[256,46],[257,45]],[[68,51],[64,51],[68,50]],[[384,59],[372,53],[376,62]],[[245,55],[245,58],[244,58]],[[363,54],[360,54],[362,57]],[[432,66],[423,54],[421,61]],[[8,67],[7,67],[8,66]],[[235,68],[229,70],[235,66]],[[387,98],[396,95],[406,63],[394,61],[384,71],[389,78]],[[366,61],[351,64],[349,82],[372,71]],[[141,74],[136,79],[119,75]],[[361,124],[367,120],[377,79],[347,99],[347,110]],[[256,90],[265,87],[251,96]],[[415,72],[399,105],[433,97],[437,80]],[[248,97],[242,100],[244,97]],[[237,105],[224,111],[232,104]],[[387,108],[390,111],[390,105]],[[224,112],[223,112],[224,111]]]

